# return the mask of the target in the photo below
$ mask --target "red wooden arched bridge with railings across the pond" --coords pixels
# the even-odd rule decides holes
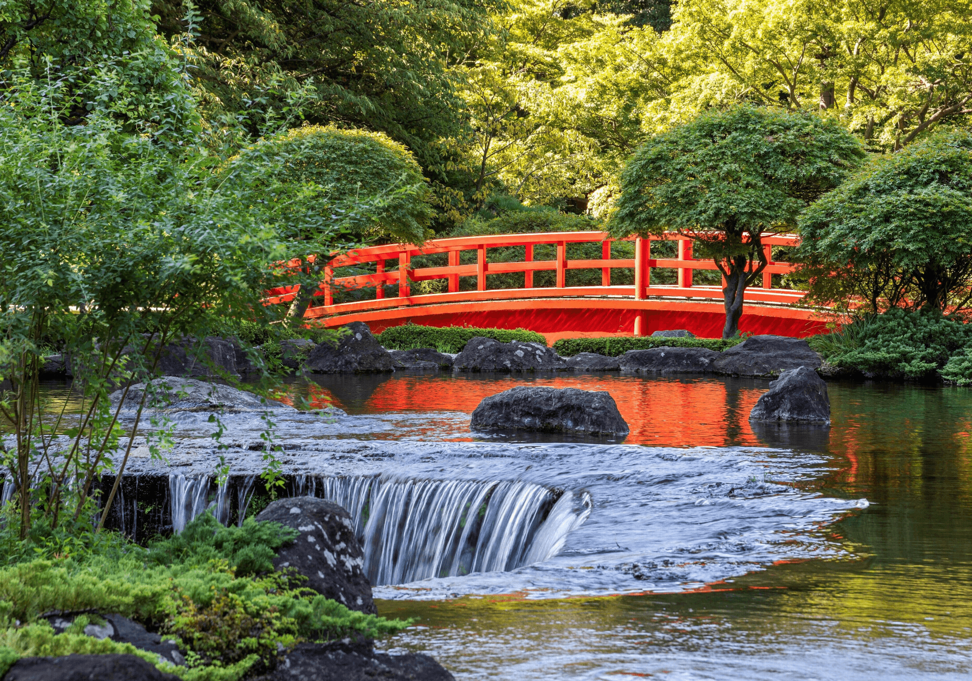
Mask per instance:
[[[393,243],[359,248],[330,261],[325,280],[314,294],[315,303],[324,305],[310,306],[304,316],[318,319],[328,327],[363,321],[374,333],[407,322],[428,326],[522,327],[543,334],[549,342],[585,336],[647,336],[661,329],[687,329],[707,338],[721,335],[725,323],[721,288],[693,285],[692,281],[697,269],[717,269],[712,260],[692,258],[689,238],[666,233],[650,239],[624,239],[634,241],[634,258],[629,259],[611,258],[612,240],[605,232],[497,234],[432,239],[421,246]],[[677,257],[652,258],[652,242],[662,240],[677,242]],[[805,295],[803,291],[773,288],[774,274],[786,274],[794,269],[790,263],[773,261],[773,247],[796,246],[799,242],[795,234],[762,236],[769,265],[763,270],[762,286],[746,290],[741,331],[803,337],[824,328],[824,320],[814,310],[799,305]],[[600,244],[602,257],[569,260],[568,246],[581,243]],[[534,260],[534,249],[541,244],[556,247],[553,260]],[[522,261],[488,262],[488,249],[510,246],[524,248]],[[461,264],[463,251],[474,251],[475,262]],[[447,254],[448,264],[442,267],[412,265],[417,256],[443,253]],[[397,267],[387,267],[389,261],[396,262]],[[366,269],[368,273],[334,277],[335,269],[346,267]],[[568,286],[567,272],[572,269],[601,270],[601,285]],[[612,269],[634,269],[634,284],[612,286]],[[677,277],[666,277],[675,278],[677,283],[652,284],[653,269],[677,270]],[[534,274],[547,270],[555,272],[554,285],[535,286]],[[490,275],[510,272],[523,272],[521,288],[489,288]],[[463,277],[469,279],[463,281]],[[474,290],[469,285],[473,278]],[[440,284],[439,288],[443,291],[412,295],[413,282],[433,279],[442,280],[444,285]],[[386,295],[385,287],[390,283],[398,283],[397,297]],[[295,298],[298,288],[273,289],[268,302],[289,302]],[[334,303],[335,290],[367,288],[374,291],[374,298]]]

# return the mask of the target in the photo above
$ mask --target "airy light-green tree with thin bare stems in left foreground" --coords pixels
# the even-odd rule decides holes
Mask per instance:
[[[274,264],[293,252],[291,225],[318,242],[346,231],[316,209],[323,187],[273,181],[281,150],[255,148],[215,175],[198,146],[174,154],[105,112],[69,125],[63,87],[21,74],[0,99],[0,417],[16,435],[0,456],[19,489],[21,537],[32,513],[49,526],[87,522],[95,478],[114,464],[121,480],[145,403],[125,433],[110,392],[155,376],[173,339],[268,322],[261,299],[289,283]],[[46,412],[38,383],[52,331],[84,399],[70,441],[54,437],[63,413]],[[152,433],[157,453],[165,433]]]

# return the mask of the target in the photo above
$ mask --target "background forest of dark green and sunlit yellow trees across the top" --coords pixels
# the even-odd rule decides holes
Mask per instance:
[[[967,0],[0,8],[0,64],[71,73],[78,117],[112,106],[133,125],[195,128],[224,154],[304,124],[388,135],[428,180],[435,233],[503,212],[507,196],[602,217],[631,153],[712,107],[818,111],[874,152],[972,111]]]

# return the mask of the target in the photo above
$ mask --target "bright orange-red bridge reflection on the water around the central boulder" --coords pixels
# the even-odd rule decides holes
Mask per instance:
[[[631,427],[625,440],[631,444],[759,445],[749,427],[748,415],[764,389],[727,389],[722,381],[704,378],[394,376],[377,386],[364,403],[364,411],[471,413],[484,397],[514,385],[607,390]]]

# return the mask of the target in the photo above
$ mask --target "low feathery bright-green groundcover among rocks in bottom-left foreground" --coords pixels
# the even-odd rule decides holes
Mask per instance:
[[[113,532],[54,532],[27,552],[9,551],[17,523],[3,525],[0,676],[22,657],[131,653],[187,681],[236,681],[263,673],[300,641],[377,637],[409,624],[349,610],[302,588],[303,577],[274,571],[276,550],[296,535],[274,522],[225,527],[204,513],[147,548]],[[52,611],[129,617],[180,641],[189,666],[85,635],[98,622],[93,614],[55,633],[41,617]]]

